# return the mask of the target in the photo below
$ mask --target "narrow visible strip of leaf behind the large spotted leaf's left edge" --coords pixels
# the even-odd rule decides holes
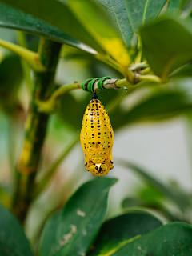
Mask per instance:
[[[55,242],[56,232],[58,229],[58,224],[61,220],[62,211],[58,211],[53,214],[48,221],[42,232],[41,243],[39,246],[39,256],[48,256],[51,251],[51,247]]]

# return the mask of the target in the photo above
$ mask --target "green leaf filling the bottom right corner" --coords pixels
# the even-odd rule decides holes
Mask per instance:
[[[122,249],[114,254],[107,254],[107,256],[189,256],[192,253],[191,244],[192,226],[183,222],[171,222],[166,226],[160,226],[156,230],[142,235],[141,238],[123,246]]]

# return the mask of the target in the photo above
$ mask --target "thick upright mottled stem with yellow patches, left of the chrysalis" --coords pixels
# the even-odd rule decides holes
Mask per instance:
[[[38,170],[49,118],[48,114],[38,111],[35,99],[45,101],[54,91],[54,74],[61,46],[60,43],[45,38],[41,38],[39,42],[39,61],[46,67],[46,71],[34,74],[34,94],[26,118],[26,136],[16,170],[12,201],[12,210],[21,222],[24,222],[33,198],[34,178]]]

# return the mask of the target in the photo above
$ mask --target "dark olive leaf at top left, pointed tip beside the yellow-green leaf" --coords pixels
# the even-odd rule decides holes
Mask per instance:
[[[103,52],[102,48],[94,41],[94,38],[92,38],[78,22],[69,7],[61,2],[55,0],[31,0],[30,4],[25,0],[1,0],[1,2],[22,10],[26,12],[26,14],[31,14],[36,18],[40,18],[43,21],[50,23],[50,25],[55,26],[58,30],[62,30],[73,38],[92,47],[94,50]]]

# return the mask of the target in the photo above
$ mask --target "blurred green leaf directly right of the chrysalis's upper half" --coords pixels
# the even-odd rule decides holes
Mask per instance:
[[[156,88],[154,94],[140,100],[135,106],[130,107],[128,104],[126,107],[125,103],[122,109],[118,105],[110,113],[110,121],[115,130],[133,122],[154,122],[172,118],[178,114],[185,114],[191,108],[189,98],[181,92]]]

